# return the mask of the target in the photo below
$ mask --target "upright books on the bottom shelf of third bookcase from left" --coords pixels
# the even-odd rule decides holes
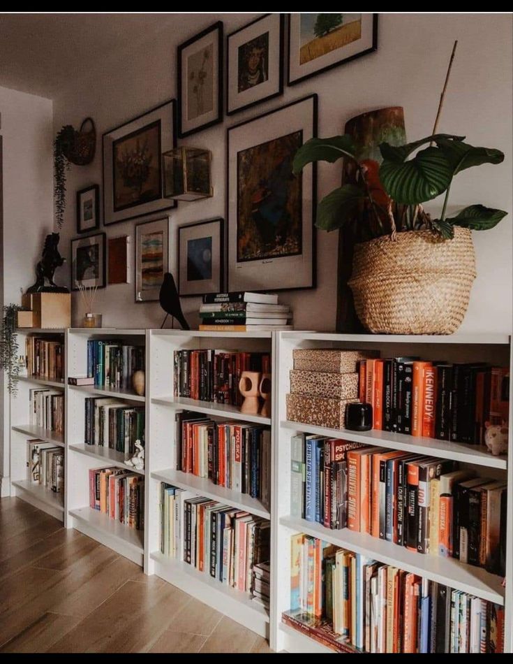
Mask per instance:
[[[269,561],[269,521],[164,482],[161,511],[165,556],[251,593],[253,565]]]

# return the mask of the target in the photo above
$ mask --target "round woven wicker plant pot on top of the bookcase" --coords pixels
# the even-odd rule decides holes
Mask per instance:
[[[385,334],[452,334],[466,314],[476,276],[472,233],[397,233],[355,246],[349,285],[362,324]]]

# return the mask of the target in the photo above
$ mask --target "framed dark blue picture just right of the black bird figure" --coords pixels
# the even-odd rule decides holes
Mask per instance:
[[[179,296],[223,291],[223,224],[223,219],[212,219],[179,227]]]

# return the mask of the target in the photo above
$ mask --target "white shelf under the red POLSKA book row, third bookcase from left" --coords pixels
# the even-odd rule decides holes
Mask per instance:
[[[168,482],[168,484],[178,486],[180,489],[195,491],[195,493],[198,493],[198,496],[205,496],[205,498],[226,503],[230,507],[237,507],[238,510],[245,510],[246,512],[250,512],[250,514],[255,514],[255,517],[271,518],[269,510],[257,498],[251,498],[247,493],[239,493],[232,491],[232,489],[226,489],[225,486],[217,486],[217,484],[211,482],[207,477],[197,477],[191,472],[182,472],[181,470],[173,470],[172,468],[152,472],[151,477],[158,479],[160,482]]]

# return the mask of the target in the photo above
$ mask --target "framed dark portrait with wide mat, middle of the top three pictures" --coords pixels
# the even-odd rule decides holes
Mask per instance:
[[[228,35],[227,115],[283,94],[283,22],[266,14]]]

